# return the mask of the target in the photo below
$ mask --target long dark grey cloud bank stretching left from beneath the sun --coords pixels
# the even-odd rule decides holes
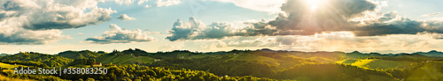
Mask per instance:
[[[328,0],[322,6],[311,11],[312,5],[306,0],[289,0],[281,6],[275,20],[246,22],[246,27],[232,27],[229,23],[218,23],[206,26],[195,18],[181,26],[183,22],[175,22],[167,37],[169,40],[200,40],[221,39],[229,36],[260,36],[260,35],[313,35],[325,31],[342,31],[342,27],[350,27],[355,22],[349,19],[364,15],[364,11],[374,11],[376,4],[364,0]]]

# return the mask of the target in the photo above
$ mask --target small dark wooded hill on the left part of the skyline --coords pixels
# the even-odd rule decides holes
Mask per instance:
[[[101,56],[105,54],[105,52],[92,52],[89,50],[82,50],[82,51],[65,51],[58,53],[58,56],[70,58],[70,59],[86,59],[86,58],[96,58],[98,56]]]

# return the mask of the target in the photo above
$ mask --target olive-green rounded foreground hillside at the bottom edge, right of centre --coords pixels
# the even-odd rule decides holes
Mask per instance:
[[[395,81],[383,70],[368,70],[337,63],[301,64],[276,71],[276,77],[301,81]]]

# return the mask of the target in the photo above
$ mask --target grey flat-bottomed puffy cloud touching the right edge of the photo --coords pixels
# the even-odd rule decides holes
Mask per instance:
[[[401,18],[396,12],[385,13],[375,21],[366,21],[364,26],[356,26],[352,31],[357,36],[387,34],[443,33],[442,21],[417,21]]]

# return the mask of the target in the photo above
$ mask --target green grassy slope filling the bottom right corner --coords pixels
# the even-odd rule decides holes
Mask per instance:
[[[424,65],[414,71],[406,78],[407,81],[442,81],[443,73],[441,68],[443,62],[424,63]]]

